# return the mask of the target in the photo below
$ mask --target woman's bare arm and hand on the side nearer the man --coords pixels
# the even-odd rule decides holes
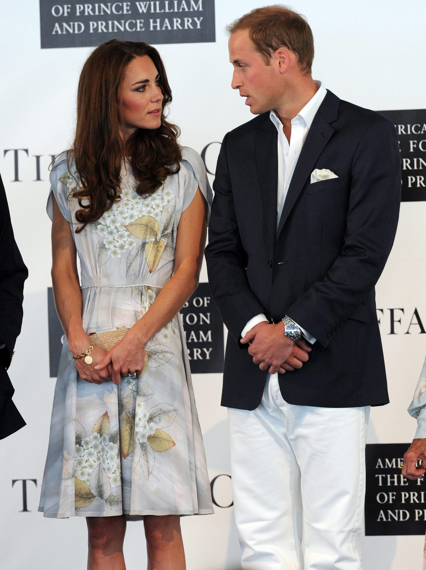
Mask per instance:
[[[207,203],[198,188],[190,205],[181,214],[177,227],[175,271],[145,315],[100,363],[112,361],[113,380],[143,369],[145,345],[181,310],[198,285],[207,234]],[[99,369],[100,369],[99,368]]]

